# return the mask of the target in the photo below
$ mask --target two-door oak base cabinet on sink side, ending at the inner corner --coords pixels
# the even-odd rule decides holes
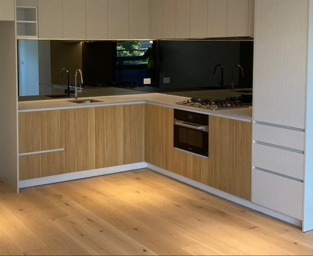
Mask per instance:
[[[145,161],[145,105],[96,108],[96,168]]]

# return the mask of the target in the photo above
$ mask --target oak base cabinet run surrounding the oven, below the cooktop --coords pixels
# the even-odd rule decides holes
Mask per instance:
[[[173,109],[146,104],[146,162],[251,200],[252,124],[209,118],[209,157],[173,147]]]

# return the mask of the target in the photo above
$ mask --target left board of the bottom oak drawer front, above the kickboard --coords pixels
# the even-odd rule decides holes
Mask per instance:
[[[19,180],[41,177],[41,154],[18,157]]]

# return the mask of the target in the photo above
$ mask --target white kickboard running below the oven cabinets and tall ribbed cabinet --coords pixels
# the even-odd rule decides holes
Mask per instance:
[[[243,205],[245,207],[248,207],[248,208],[251,208],[255,211],[259,211],[259,212],[262,212],[266,215],[269,215],[269,216],[272,216],[274,218],[277,218],[277,219],[280,219],[282,221],[285,221],[285,222],[288,222],[290,224],[293,224],[295,226],[298,226],[298,227],[302,227],[302,221],[301,220],[298,220],[296,218],[293,218],[293,217],[290,217],[290,216],[287,216],[283,213],[280,213],[280,212],[277,212],[277,211],[274,211],[274,210],[271,210],[269,208],[266,208],[264,206],[261,206],[261,205],[257,205],[251,201],[248,201],[248,200],[245,200],[243,198],[240,198],[238,196],[235,196],[235,195],[231,195],[229,193],[226,193],[224,191],[221,191],[219,189],[215,189],[215,188],[212,188],[208,185],[205,185],[205,184],[202,184],[198,181],[195,181],[195,180],[192,180],[192,179],[189,179],[189,178],[186,178],[186,177],[183,177],[177,173],[173,173],[173,172],[170,172],[170,171],[167,171],[165,169],[162,169],[160,167],[157,167],[153,164],[150,164],[150,163],[147,163],[147,168],[153,170],[153,171],[156,171],[158,173],[162,173],[166,176],[169,176],[173,179],[177,179],[179,181],[182,181],[184,183],[187,183],[193,187],[196,187],[196,188],[199,188],[199,189],[202,189],[204,191],[207,191],[213,195],[217,195],[219,197],[222,197],[222,198],[225,198],[229,201],[233,201],[234,203],[237,203],[239,205]]]

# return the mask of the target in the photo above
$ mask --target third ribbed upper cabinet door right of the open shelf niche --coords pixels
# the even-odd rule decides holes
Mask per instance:
[[[86,0],[86,39],[108,39],[108,0]]]

